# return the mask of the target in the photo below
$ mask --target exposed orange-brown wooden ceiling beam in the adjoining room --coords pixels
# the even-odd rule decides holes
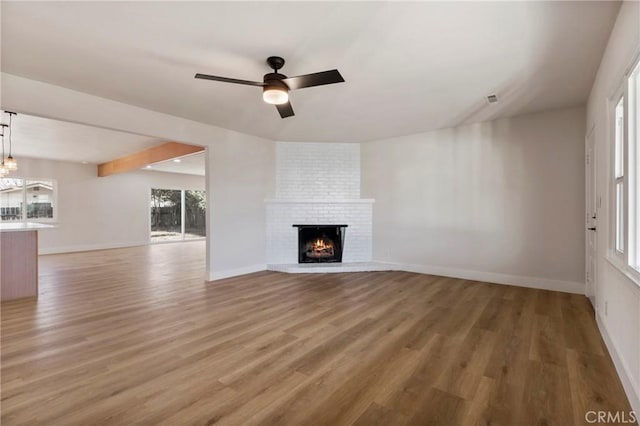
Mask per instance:
[[[167,142],[135,154],[125,155],[106,163],[98,164],[98,176],[105,177],[116,173],[142,169],[150,164],[171,160],[189,154],[204,151],[204,147],[179,142]]]

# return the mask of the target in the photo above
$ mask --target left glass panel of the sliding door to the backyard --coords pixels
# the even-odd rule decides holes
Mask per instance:
[[[182,239],[181,191],[151,190],[151,241]]]

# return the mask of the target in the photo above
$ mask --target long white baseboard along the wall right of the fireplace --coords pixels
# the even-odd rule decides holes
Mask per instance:
[[[462,278],[465,280],[484,281],[494,284],[515,285],[537,288],[541,290],[562,291],[584,295],[585,285],[581,282],[551,280],[548,278],[525,277],[520,275],[498,274],[495,272],[470,271],[466,269],[446,268],[441,266],[411,265],[404,263],[386,263],[398,271],[416,272],[419,274],[440,275],[443,277]]]

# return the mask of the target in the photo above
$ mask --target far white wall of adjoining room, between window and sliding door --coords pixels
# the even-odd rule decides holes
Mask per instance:
[[[40,253],[149,242],[151,188],[204,189],[203,176],[135,171],[97,177],[95,165],[20,158],[16,176],[57,182],[56,228],[39,231]]]

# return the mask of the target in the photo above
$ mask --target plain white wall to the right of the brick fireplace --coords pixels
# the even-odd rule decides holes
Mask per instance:
[[[583,108],[363,143],[374,260],[584,292]]]

